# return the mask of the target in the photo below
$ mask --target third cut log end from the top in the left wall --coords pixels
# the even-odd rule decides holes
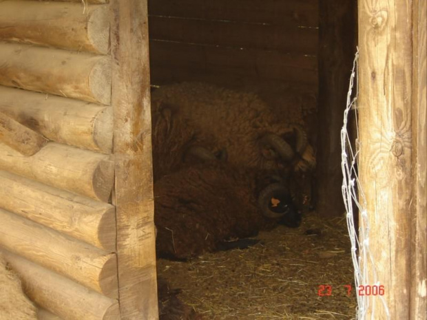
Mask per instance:
[[[94,142],[105,153],[113,149],[113,110],[107,107],[99,111],[94,121]]]

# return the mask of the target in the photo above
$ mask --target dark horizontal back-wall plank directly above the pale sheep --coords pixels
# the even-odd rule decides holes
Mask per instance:
[[[150,41],[150,67],[154,78],[161,70],[169,70],[178,80],[186,74],[205,73],[213,76],[258,77],[278,81],[317,83],[317,58],[281,54],[277,51],[240,50],[230,47],[215,47]],[[184,72],[183,74],[180,74]],[[167,74],[165,74],[167,76]]]

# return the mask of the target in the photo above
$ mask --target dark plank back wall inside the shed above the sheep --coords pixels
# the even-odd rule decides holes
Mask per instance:
[[[152,84],[317,88],[318,0],[149,0]]]

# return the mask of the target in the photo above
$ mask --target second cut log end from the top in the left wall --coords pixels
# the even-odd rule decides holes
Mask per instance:
[[[105,56],[95,63],[90,72],[89,86],[92,96],[103,105],[110,105],[112,63],[109,56]]]

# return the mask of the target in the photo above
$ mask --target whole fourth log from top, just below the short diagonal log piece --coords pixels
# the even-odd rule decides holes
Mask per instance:
[[[114,181],[110,156],[50,142],[25,158],[0,144],[0,170],[108,202]]]

